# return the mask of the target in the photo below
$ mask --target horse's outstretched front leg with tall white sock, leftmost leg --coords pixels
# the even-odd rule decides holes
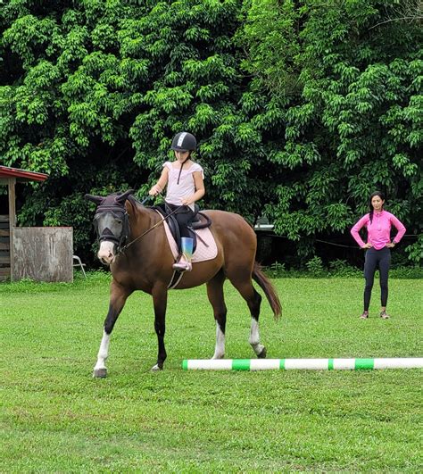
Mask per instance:
[[[95,364],[93,377],[104,378],[107,375],[105,362],[109,355],[109,343],[114,323],[118,319],[125,302],[131,292],[121,287],[118,283],[112,280],[109,312],[104,320],[103,338],[100,344],[100,349],[97,354],[97,363]]]

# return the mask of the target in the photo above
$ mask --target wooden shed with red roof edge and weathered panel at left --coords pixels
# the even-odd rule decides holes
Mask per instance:
[[[47,178],[44,173],[0,166],[9,211],[0,214],[0,280],[73,280],[71,227],[16,227],[16,183]]]

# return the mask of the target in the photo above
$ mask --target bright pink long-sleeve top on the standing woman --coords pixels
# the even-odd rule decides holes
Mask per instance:
[[[380,250],[381,248],[384,248],[386,244],[391,242],[392,225],[394,225],[398,230],[393,243],[398,244],[402,239],[402,236],[405,234],[405,227],[402,225],[402,222],[394,216],[394,214],[387,211],[373,212],[373,220],[371,224],[370,215],[366,214],[351,229],[351,234],[357,244],[362,247],[364,242],[360,237],[359,231],[361,228],[366,226],[368,231],[368,242],[373,245],[376,250]]]

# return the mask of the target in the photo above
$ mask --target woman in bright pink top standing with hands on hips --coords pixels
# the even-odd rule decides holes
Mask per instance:
[[[402,239],[405,234],[405,227],[394,214],[384,210],[385,195],[376,191],[370,195],[369,213],[359,220],[351,229],[352,237],[362,249],[367,249],[364,261],[364,278],[366,286],[364,287],[364,311],[361,319],[369,318],[369,304],[371,289],[375,279],[377,266],[380,275],[381,304],[380,317],[387,320],[389,315],[386,313],[386,303],[388,295],[388,272],[391,264],[391,248],[393,248]],[[391,227],[398,230],[394,240],[391,242]],[[360,237],[359,231],[366,226],[368,231],[368,241],[365,244]]]

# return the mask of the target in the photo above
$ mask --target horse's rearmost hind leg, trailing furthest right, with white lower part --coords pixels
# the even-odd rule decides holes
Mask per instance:
[[[248,308],[251,313],[251,328],[250,328],[250,338],[249,343],[253,347],[254,353],[260,359],[266,357],[266,347],[260,344],[260,333],[259,333],[259,316],[260,316],[260,305],[261,305],[261,295],[253,287],[251,277],[245,277],[244,279],[240,278],[240,274],[236,275],[234,278],[231,278],[230,282],[236,289],[239,291],[241,296],[245,299],[248,304]]]

